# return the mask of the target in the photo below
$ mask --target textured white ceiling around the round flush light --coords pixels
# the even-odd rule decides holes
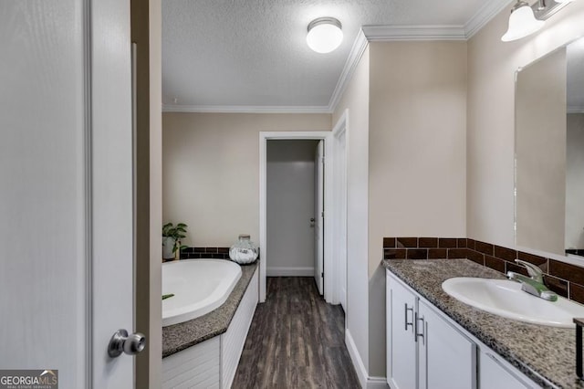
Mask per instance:
[[[508,3],[508,1],[507,1]],[[328,106],[361,26],[464,26],[485,0],[163,0],[162,95],[192,110]],[[308,23],[340,20],[329,54]]]

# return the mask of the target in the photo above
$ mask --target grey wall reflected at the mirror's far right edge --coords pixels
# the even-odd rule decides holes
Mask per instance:
[[[566,248],[584,248],[584,113],[568,114]]]

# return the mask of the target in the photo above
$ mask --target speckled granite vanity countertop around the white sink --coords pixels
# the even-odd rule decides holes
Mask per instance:
[[[535,383],[584,388],[576,375],[575,330],[502,318],[455,300],[442,289],[445,279],[505,279],[503,274],[468,259],[390,259],[382,264]]]

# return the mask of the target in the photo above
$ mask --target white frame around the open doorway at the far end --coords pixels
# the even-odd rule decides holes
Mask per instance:
[[[333,203],[332,188],[328,183],[332,182],[332,163],[329,158],[332,155],[332,132],[331,131],[260,131],[259,132],[259,302],[266,301],[266,268],[267,257],[269,254],[266,250],[266,226],[267,226],[267,141],[286,141],[286,140],[323,140],[325,141],[325,190],[324,190],[324,298],[327,302],[334,303],[333,292],[335,290],[334,283],[334,267],[332,263],[332,226],[333,219],[328,209]]]

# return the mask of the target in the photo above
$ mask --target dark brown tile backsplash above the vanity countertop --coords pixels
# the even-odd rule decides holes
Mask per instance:
[[[384,237],[384,259],[468,258],[500,273],[515,271],[527,276],[527,270],[516,265],[519,258],[533,263],[544,272],[547,288],[558,295],[584,303],[584,268],[544,258],[515,249],[496,246],[468,238],[456,237]]]

